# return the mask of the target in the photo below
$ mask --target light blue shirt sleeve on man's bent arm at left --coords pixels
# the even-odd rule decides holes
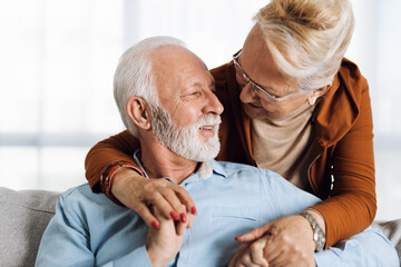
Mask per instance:
[[[61,195],[56,205],[56,214],[42,236],[36,266],[98,266],[90,249],[90,236],[85,219],[77,212],[79,211],[71,210],[69,205],[66,205],[65,195]],[[130,266],[131,263],[151,266],[145,246],[102,266]]]

